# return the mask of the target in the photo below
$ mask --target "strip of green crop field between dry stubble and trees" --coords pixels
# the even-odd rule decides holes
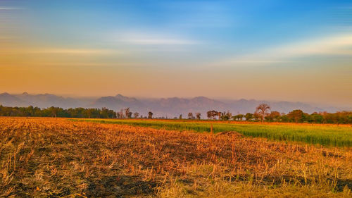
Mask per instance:
[[[198,120],[112,120],[112,119],[71,119],[97,123],[114,123],[142,126],[166,130],[191,130],[195,132],[236,131],[245,136],[265,137],[270,140],[305,142],[333,147],[352,147],[351,125],[313,125],[294,123],[241,123],[241,122],[210,122]]]

